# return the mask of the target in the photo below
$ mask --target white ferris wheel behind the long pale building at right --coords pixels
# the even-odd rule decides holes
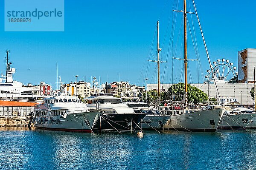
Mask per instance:
[[[212,73],[213,72],[213,73]],[[233,66],[233,62],[228,59],[217,59],[213,62],[212,70],[207,70],[207,75],[204,83],[227,83],[231,78],[236,77],[238,72],[236,72],[236,67]]]

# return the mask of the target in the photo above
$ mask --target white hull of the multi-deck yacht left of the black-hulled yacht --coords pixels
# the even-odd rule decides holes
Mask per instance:
[[[73,131],[91,133],[95,122],[103,113],[98,111],[70,113],[64,118],[62,115],[57,116],[36,116],[35,127],[45,130]],[[41,122],[40,122],[41,118]],[[52,122],[50,123],[50,119]],[[46,119],[43,123],[42,119]],[[58,119],[58,121],[56,121]]]

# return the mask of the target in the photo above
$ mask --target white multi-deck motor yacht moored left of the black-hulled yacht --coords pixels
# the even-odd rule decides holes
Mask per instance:
[[[32,123],[35,123],[36,128],[46,130],[91,133],[102,114],[90,110],[78,97],[60,93],[44,99],[44,104],[35,106]]]

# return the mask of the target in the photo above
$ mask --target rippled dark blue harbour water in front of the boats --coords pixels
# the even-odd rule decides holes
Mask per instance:
[[[256,131],[88,134],[0,128],[0,169],[255,170]]]

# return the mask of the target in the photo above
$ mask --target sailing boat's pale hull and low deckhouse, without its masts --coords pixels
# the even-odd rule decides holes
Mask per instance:
[[[170,116],[165,130],[216,131],[224,108],[185,108],[184,106],[157,106],[162,115]]]

